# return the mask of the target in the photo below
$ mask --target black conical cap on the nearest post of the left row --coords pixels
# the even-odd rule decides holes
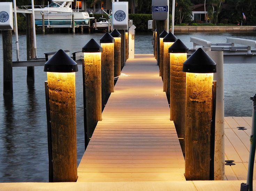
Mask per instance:
[[[45,72],[77,72],[77,63],[63,50],[58,50],[51,59],[45,63]]]

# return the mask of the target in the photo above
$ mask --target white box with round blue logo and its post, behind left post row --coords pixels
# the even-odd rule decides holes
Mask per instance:
[[[112,26],[121,34],[121,69],[125,65],[125,30],[128,27],[128,2],[112,2]]]

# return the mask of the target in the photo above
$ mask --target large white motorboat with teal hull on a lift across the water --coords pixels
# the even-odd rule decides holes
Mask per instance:
[[[42,13],[44,14],[45,25],[71,25],[72,15],[74,15],[75,25],[87,25],[90,20],[88,12],[73,11],[72,2],[73,0],[53,0],[49,6],[35,8],[36,25],[42,25]]]

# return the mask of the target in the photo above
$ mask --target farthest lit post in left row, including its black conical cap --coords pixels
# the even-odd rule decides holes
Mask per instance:
[[[115,39],[114,44],[114,77],[121,74],[121,34],[114,29],[110,35]]]

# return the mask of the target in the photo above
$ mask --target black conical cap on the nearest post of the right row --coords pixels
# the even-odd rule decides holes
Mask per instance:
[[[216,63],[202,48],[199,48],[183,63],[182,71],[190,73],[216,73]]]

